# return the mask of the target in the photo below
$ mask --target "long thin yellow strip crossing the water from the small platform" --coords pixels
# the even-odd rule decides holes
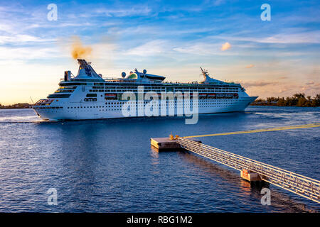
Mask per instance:
[[[215,135],[233,135],[233,134],[244,134],[244,133],[260,133],[260,132],[268,132],[268,131],[280,131],[280,130],[288,130],[288,129],[315,128],[315,127],[320,127],[320,123],[308,123],[308,124],[305,124],[305,125],[286,126],[286,127],[278,127],[278,128],[253,129],[253,130],[237,131],[237,132],[230,132],[230,133],[215,133],[215,134],[206,134],[206,135],[190,135],[190,136],[183,136],[183,138],[206,137],[206,136],[215,136]]]

